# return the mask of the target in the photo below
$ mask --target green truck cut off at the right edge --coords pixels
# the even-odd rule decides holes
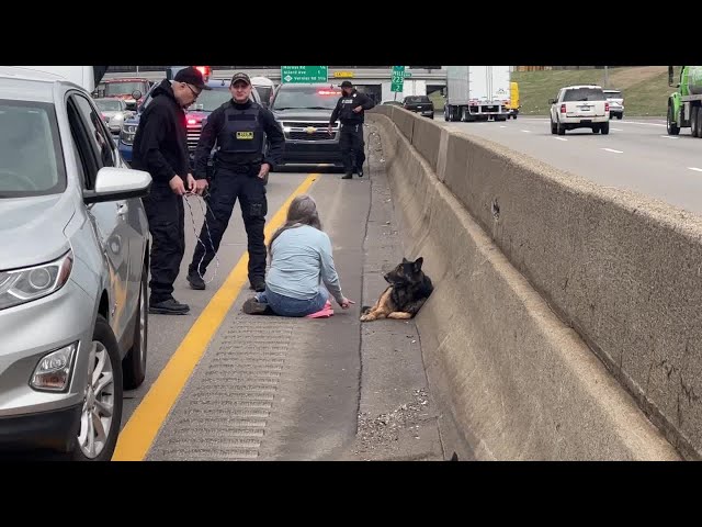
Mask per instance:
[[[668,86],[678,89],[668,98],[668,135],[690,127],[692,137],[702,137],[702,66],[682,66],[677,85],[672,77],[672,66],[668,66]]]

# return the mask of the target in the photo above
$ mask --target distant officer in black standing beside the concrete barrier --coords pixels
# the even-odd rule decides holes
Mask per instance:
[[[364,111],[372,109],[375,103],[365,94],[353,88],[350,80],[341,82],[341,92],[343,93],[333,109],[331,117],[329,117],[329,134],[331,135],[331,126],[341,121],[341,137],[339,146],[343,156],[343,168],[346,175],[341,179],[351,179],[353,173],[363,177],[363,162],[365,161],[365,153],[363,148],[363,121]]]

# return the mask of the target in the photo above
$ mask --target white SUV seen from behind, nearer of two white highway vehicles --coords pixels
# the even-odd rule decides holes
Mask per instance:
[[[548,102],[552,134],[565,135],[566,130],[574,128],[610,133],[610,103],[600,86],[566,86]]]

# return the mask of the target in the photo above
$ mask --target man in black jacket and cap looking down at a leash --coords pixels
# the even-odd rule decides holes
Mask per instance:
[[[202,90],[208,90],[202,74],[181,69],[172,81],[154,88],[154,100],[139,119],[134,137],[134,168],[151,175],[151,191],[144,201],[151,233],[149,313],[184,315],[188,304],[173,299],[173,282],[185,251],[183,194],[202,193],[205,181],[195,181],[188,160],[184,108]]]

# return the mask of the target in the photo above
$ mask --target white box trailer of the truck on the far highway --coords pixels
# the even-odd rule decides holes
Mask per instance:
[[[446,121],[507,121],[509,66],[446,66]]]

